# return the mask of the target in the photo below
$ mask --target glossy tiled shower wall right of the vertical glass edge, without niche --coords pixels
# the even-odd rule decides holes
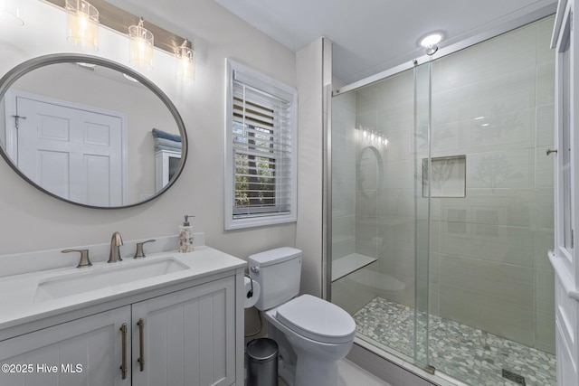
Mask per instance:
[[[434,63],[432,156],[466,155],[467,194],[432,199],[430,265],[433,314],[549,353],[552,27],[548,18]]]

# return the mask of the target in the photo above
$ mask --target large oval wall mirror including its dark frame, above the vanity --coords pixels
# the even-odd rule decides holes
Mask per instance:
[[[137,71],[56,54],[24,61],[0,80],[0,153],[44,193],[123,208],[175,183],[187,137],[175,105]]]

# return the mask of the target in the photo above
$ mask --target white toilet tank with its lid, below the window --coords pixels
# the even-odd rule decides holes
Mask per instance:
[[[287,302],[299,293],[301,250],[289,247],[270,249],[249,258],[250,276],[261,287],[255,306],[267,310]]]

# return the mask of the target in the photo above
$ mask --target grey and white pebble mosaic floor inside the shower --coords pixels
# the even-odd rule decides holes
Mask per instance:
[[[413,308],[375,297],[354,319],[357,334],[413,356]],[[502,377],[506,369],[525,377],[527,385],[556,385],[555,355],[434,315],[429,332],[432,365],[460,381],[517,385]]]

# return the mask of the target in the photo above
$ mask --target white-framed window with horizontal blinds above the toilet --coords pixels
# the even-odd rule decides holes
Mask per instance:
[[[225,229],[297,219],[298,92],[227,61]]]

